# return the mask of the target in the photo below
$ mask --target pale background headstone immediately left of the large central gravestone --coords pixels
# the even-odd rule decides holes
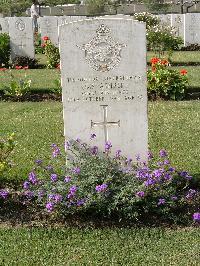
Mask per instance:
[[[39,18],[41,37],[48,36],[51,42],[58,46],[58,18],[40,17]]]

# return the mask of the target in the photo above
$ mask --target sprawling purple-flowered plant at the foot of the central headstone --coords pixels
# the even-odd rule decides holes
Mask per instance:
[[[199,192],[190,188],[192,177],[172,167],[165,150],[158,162],[149,153],[148,163],[139,156],[133,163],[121,150],[112,157],[109,141],[104,152],[80,139],[67,141],[65,148],[67,164],[65,152],[53,144],[51,164],[37,160],[23,184],[26,199],[49,213],[183,222],[197,211]]]

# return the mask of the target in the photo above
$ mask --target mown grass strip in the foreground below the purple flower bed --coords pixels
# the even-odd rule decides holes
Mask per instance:
[[[1,229],[0,265],[198,266],[200,230]]]

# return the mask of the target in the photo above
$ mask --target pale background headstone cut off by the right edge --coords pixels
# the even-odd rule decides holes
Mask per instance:
[[[200,14],[185,14],[185,45],[200,44]]]

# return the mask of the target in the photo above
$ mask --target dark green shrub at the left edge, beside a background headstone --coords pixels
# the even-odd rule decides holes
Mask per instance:
[[[0,34],[0,67],[8,67],[10,60],[10,37],[7,33]]]

